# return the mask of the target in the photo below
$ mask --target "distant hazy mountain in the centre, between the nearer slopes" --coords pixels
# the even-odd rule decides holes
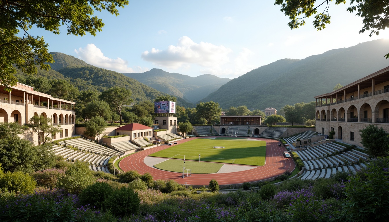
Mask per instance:
[[[144,73],[124,73],[124,75],[158,91],[185,98],[193,103],[208,96],[231,80],[210,74],[190,77],[189,75],[165,72],[158,68]]]

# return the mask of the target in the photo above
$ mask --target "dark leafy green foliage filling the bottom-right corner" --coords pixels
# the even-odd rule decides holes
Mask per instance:
[[[387,220],[389,216],[389,159],[372,160],[362,175],[345,183],[345,210],[352,221]]]

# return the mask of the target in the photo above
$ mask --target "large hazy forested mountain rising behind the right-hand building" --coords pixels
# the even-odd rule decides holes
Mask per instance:
[[[381,39],[305,59],[281,59],[231,80],[202,101],[261,110],[314,101],[338,83],[345,86],[389,66],[388,52],[389,40]]]

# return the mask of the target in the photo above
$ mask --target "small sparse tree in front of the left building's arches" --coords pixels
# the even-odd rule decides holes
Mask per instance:
[[[51,140],[51,135],[59,133],[61,131],[60,126],[51,125],[51,119],[44,117],[43,115],[34,115],[31,117],[27,126],[38,135],[38,144],[45,144]]]

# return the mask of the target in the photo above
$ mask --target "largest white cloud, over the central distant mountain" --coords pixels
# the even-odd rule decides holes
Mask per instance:
[[[179,68],[184,64],[198,64],[210,67],[229,62],[228,54],[231,49],[223,45],[217,46],[207,42],[195,43],[189,37],[179,38],[176,46],[169,45],[165,50],[152,48],[144,51],[142,58],[155,65],[168,68]]]

